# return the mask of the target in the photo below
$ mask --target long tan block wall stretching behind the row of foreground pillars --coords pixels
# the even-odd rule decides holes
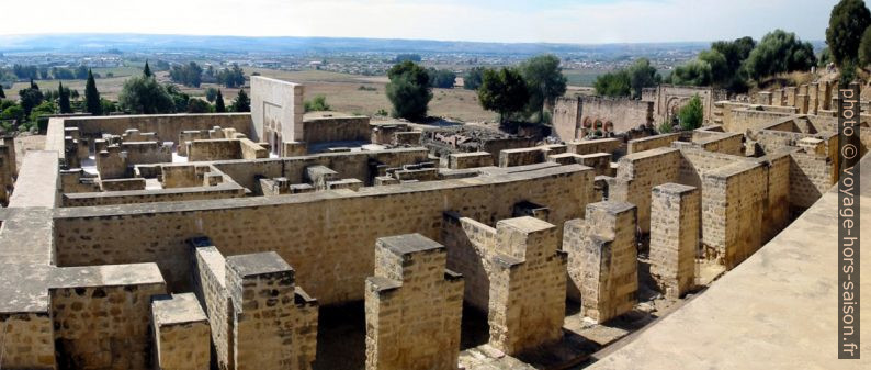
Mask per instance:
[[[444,211],[495,223],[521,201],[550,208],[550,222],[561,225],[584,215],[592,182],[591,169],[570,165],[354,193],[60,209],[54,235],[61,266],[155,261],[173,291],[190,290],[191,237],[208,235],[229,256],[275,250],[296,266],[306,290],[331,304],[363,298],[380,236],[418,232],[438,239]]]

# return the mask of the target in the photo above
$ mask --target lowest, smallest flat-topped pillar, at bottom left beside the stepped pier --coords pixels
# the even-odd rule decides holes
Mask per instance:
[[[151,325],[158,369],[208,369],[208,318],[193,293],[152,299]]]

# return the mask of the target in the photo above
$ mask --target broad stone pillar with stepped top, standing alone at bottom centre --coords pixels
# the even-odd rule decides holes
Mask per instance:
[[[444,246],[420,234],[378,238],[366,279],[366,369],[455,370],[463,277]]]

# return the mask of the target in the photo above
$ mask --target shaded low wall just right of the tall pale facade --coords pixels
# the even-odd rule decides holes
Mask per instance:
[[[325,116],[303,120],[303,137],[308,144],[323,142],[369,142],[372,133],[367,116]]]

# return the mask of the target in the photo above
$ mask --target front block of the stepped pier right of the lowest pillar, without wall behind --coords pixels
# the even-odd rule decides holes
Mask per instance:
[[[291,266],[274,251],[228,257],[226,266],[236,369],[310,369],[317,302],[294,285]]]

